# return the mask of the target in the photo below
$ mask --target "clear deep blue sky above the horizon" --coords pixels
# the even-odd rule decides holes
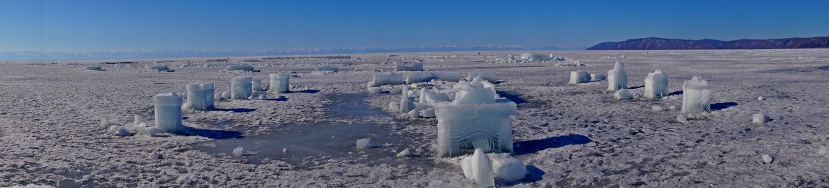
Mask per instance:
[[[593,46],[829,36],[829,1],[0,0],[0,51]]]

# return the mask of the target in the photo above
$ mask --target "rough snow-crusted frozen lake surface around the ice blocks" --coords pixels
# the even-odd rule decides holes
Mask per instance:
[[[527,52],[568,62],[504,63]],[[498,187],[829,186],[825,49],[461,51],[242,62],[259,58],[0,61],[0,186],[473,187],[465,171],[486,179],[520,171],[516,160],[494,154],[440,157],[438,118],[387,110],[401,101],[402,84],[369,94],[374,75],[412,69],[395,61],[414,59],[423,60],[423,70],[464,79],[494,71],[502,81],[497,95],[517,104],[511,157],[526,165],[526,176],[496,178]],[[570,82],[571,71],[608,76],[616,61],[624,64],[632,99],[614,98],[608,80],[584,80],[584,73]],[[148,71],[163,65],[175,71]],[[326,65],[332,67],[318,69]],[[667,76],[668,94],[657,84],[648,92],[662,98],[647,99],[645,79],[654,70]],[[681,115],[683,83],[694,76],[707,81],[710,113]],[[132,124],[136,115],[152,124],[158,94],[187,96],[187,84],[213,83],[221,96],[248,78],[272,92],[217,97],[210,111],[185,109],[186,135],[119,136],[102,125]],[[371,139],[369,148],[356,148],[362,138]],[[494,166],[462,168],[481,161]]]

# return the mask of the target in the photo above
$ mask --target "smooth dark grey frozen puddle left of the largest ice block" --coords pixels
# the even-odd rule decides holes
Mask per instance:
[[[391,125],[379,125],[371,121],[374,118],[390,117],[390,113],[379,108],[369,108],[364,100],[367,96],[327,95],[334,102],[327,106],[328,114],[321,122],[298,124],[274,134],[199,142],[194,147],[217,157],[236,157],[232,154],[233,150],[242,147],[243,155],[239,158],[244,158],[247,162],[260,164],[270,160],[286,161],[300,168],[330,162],[432,166],[434,161],[425,157],[396,157],[398,152],[410,148],[411,143],[407,140],[415,139],[416,135],[403,137],[392,133],[389,127]],[[347,119],[350,123],[337,122],[337,119]],[[405,124],[406,120],[395,121]],[[371,138],[377,147],[357,149],[356,140],[361,138]]]

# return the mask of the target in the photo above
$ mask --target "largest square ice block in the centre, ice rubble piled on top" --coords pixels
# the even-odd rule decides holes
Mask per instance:
[[[484,87],[479,77],[456,86],[458,90],[452,102],[434,104],[439,156],[458,156],[474,148],[482,148],[484,152],[512,152],[510,115],[516,113],[516,104],[497,98],[495,89]],[[429,100],[445,99],[437,96],[429,99],[427,95],[425,101]]]

